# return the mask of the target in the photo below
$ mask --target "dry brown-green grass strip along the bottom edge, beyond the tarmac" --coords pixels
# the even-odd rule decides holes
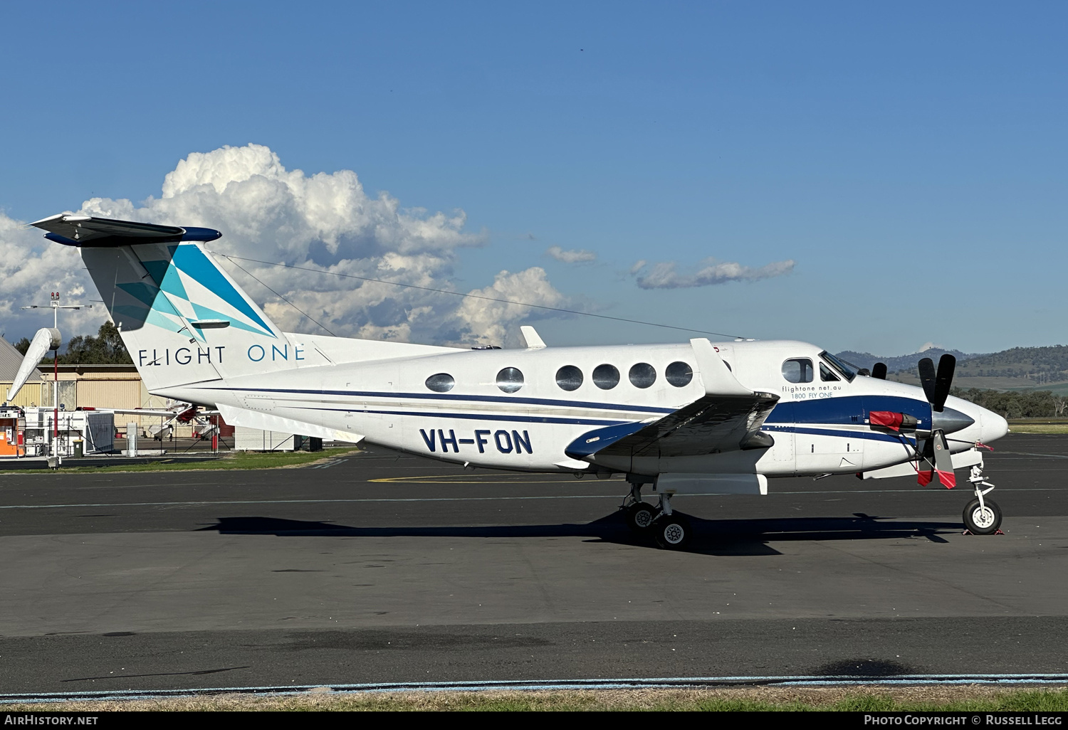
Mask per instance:
[[[1068,688],[1004,689],[983,685],[924,687],[732,687],[333,693],[9,704],[7,712],[1066,712]]]

